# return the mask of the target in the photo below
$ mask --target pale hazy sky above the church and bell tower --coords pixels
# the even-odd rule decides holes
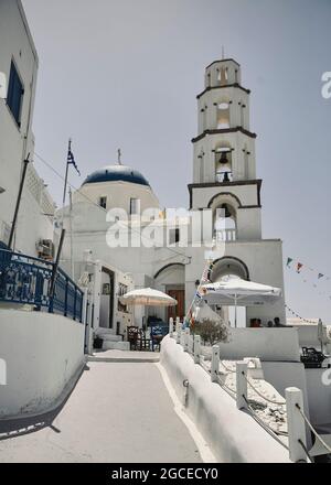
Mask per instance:
[[[40,56],[36,152],[64,173],[66,144],[82,179],[122,161],[149,180],[164,206],[188,206],[195,96],[222,55],[252,89],[264,237],[280,237],[286,300],[331,323],[330,0],[23,0]],[[60,203],[62,182],[35,165]],[[78,186],[82,179],[71,176]],[[303,282],[307,280],[307,282]],[[317,284],[317,288],[313,287]],[[319,294],[319,293],[325,294]]]

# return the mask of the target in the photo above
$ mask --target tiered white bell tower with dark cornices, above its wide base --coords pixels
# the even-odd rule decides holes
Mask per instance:
[[[231,211],[234,216],[236,212],[235,230],[224,234],[233,240],[261,237],[261,181],[256,179],[249,93],[241,85],[236,61],[210,64],[205,88],[197,95],[197,136],[192,140],[191,208],[220,207],[222,198],[226,213]]]

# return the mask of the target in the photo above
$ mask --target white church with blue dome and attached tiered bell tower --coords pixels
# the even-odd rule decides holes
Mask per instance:
[[[190,209],[210,217],[210,229],[220,242],[210,279],[235,276],[282,289],[281,241],[261,237],[256,134],[249,127],[249,90],[241,85],[241,66],[235,61],[216,61],[206,68],[205,87],[197,96],[197,137],[192,140]],[[137,225],[136,215],[149,207],[156,209],[156,226],[161,227],[163,235],[167,233],[168,244],[161,247],[146,247],[146,223]],[[114,208],[129,215],[127,222],[120,223],[128,228],[127,247],[109,247],[116,233],[110,228],[114,218],[109,209]],[[218,209],[223,211],[222,217]],[[118,217],[121,219],[120,211]],[[61,211],[57,218],[62,219]],[[65,209],[67,238],[63,263],[68,265],[71,259],[81,261],[84,251],[90,249],[94,259],[132,274],[136,287],[153,287],[179,301],[175,310],[150,309],[149,314],[157,313],[164,320],[175,314],[184,316],[206,263],[206,247],[196,247],[196,228],[191,220],[183,217],[170,228],[164,227],[169,213],[161,212],[145,176],[121,164],[104,166],[87,176],[73,196],[72,209]],[[190,235],[185,245],[186,229]],[[140,247],[136,247],[139,239]],[[136,312],[136,323],[141,323],[143,314],[143,309]],[[252,319],[260,319],[266,325],[276,316],[285,323],[284,299],[273,306],[248,308],[246,323],[249,326]]]

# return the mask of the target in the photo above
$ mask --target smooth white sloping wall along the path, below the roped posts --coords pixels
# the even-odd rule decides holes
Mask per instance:
[[[236,408],[235,400],[205,370],[193,363],[173,338],[164,337],[160,363],[179,399],[183,401],[183,380],[189,380],[185,408],[196,428],[221,463],[289,462],[287,450],[253,418]]]

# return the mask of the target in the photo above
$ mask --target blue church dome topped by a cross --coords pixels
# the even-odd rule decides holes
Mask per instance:
[[[83,185],[96,182],[131,182],[132,184],[148,185],[145,176],[138,170],[127,165],[107,165],[96,170],[86,177]]]

